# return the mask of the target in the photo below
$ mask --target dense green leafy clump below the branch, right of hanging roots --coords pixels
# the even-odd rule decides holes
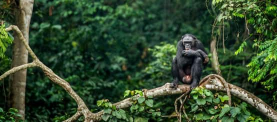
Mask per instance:
[[[188,115],[193,116],[191,117],[193,120],[247,121],[252,117],[245,102],[235,106],[225,104],[225,101],[229,99],[227,95],[213,94],[210,90],[202,87],[192,89],[190,95],[192,95],[192,99],[189,100],[191,106]]]

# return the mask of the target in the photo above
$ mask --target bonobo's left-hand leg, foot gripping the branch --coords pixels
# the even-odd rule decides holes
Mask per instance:
[[[179,72],[178,72],[178,66],[177,66],[177,58],[174,57],[171,63],[171,73],[173,76],[173,81],[170,83],[170,87],[176,88],[176,86],[179,84]]]

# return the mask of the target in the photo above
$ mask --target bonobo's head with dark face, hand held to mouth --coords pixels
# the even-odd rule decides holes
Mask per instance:
[[[185,48],[185,50],[191,49],[191,46],[194,45],[194,41],[196,40],[196,37],[192,34],[184,34],[181,37],[182,44]]]

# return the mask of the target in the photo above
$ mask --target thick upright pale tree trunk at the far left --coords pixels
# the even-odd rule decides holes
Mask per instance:
[[[19,5],[15,11],[15,24],[23,33],[28,42],[29,24],[32,14],[33,0],[19,0]],[[11,67],[26,64],[28,62],[28,51],[17,34],[14,34],[12,48]],[[26,86],[26,69],[15,72],[10,76],[9,101],[8,106],[18,109],[18,113],[24,120],[25,113],[25,86]]]

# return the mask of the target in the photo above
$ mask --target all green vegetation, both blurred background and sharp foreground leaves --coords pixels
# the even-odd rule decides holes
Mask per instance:
[[[12,33],[4,27],[14,23],[15,2],[7,1],[0,1],[0,19],[5,21],[0,25],[0,74],[11,62]],[[171,60],[184,33],[196,35],[206,50],[214,36],[222,77],[276,109],[276,4],[274,0],[35,0],[29,44],[91,111],[104,110],[104,121],[176,120],[162,117],[175,114],[176,95],[145,97],[141,89],[172,81]],[[202,76],[214,72],[209,61]],[[0,121],[15,121],[17,110],[5,105],[8,78],[0,81],[0,87]],[[111,105],[126,97],[133,100],[130,108]],[[270,121],[238,98],[232,97],[234,105],[227,105],[228,99],[222,92],[197,87],[184,107],[192,121]],[[27,70],[25,103],[26,121],[62,121],[77,106],[36,68]]]

